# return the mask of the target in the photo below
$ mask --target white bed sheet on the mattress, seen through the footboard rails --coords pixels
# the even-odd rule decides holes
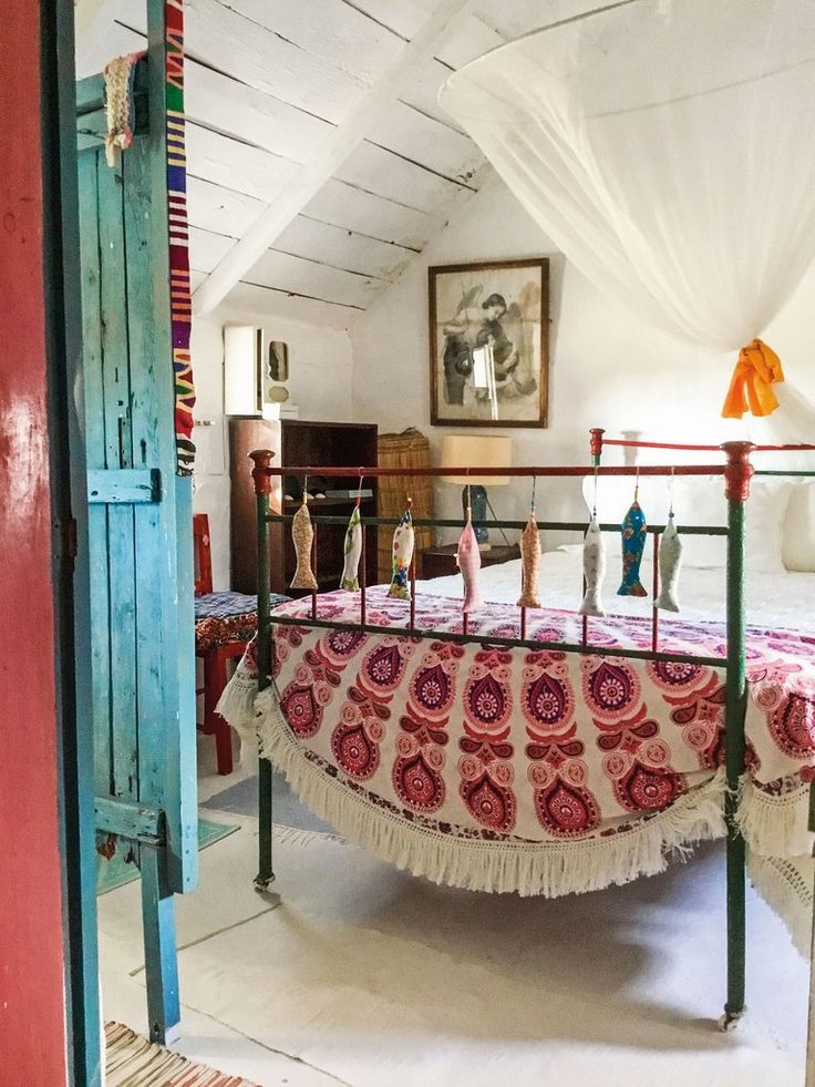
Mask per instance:
[[[576,611],[580,605],[582,584],[582,555],[575,552],[549,551],[541,555],[538,578],[539,599],[544,607]],[[520,592],[520,560],[485,566],[481,571],[482,593],[486,601],[515,604]],[[642,564],[642,584],[649,589],[647,598],[617,596],[620,571],[609,561],[602,601],[609,615],[651,615],[650,562]],[[419,593],[461,598],[461,574],[434,577],[417,583]],[[679,603],[681,612],[672,615],[660,613],[660,623],[677,619],[724,621],[725,572],[684,567],[680,572]],[[747,622],[756,626],[799,630],[815,630],[815,574],[762,574],[746,575]]]

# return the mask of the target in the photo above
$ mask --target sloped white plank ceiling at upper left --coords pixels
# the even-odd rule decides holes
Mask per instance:
[[[486,163],[437,104],[441,84],[474,57],[566,13],[565,6],[587,4],[475,0],[448,33],[420,50],[442,2],[186,0],[195,289],[238,239],[257,232],[283,186],[297,188],[303,164],[320,165],[332,135],[342,143],[348,131],[341,162],[323,160],[319,187],[274,225],[268,247],[255,235],[259,259],[243,269],[227,301],[347,328],[477,192]],[[79,78],[144,49],[144,0],[78,0],[76,12]],[[367,124],[367,107],[388,90],[411,41],[419,54],[406,78],[384,114]],[[224,273],[221,266],[220,283],[213,277],[207,289],[223,289]]]

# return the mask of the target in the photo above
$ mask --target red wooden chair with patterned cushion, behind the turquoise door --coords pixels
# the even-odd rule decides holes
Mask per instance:
[[[209,547],[209,519],[193,517],[195,546],[195,655],[204,662],[204,721],[200,730],[215,737],[218,773],[233,771],[231,729],[215,712],[227,685],[227,660],[241,657],[257,629],[257,601],[238,593],[213,593],[213,557]]]

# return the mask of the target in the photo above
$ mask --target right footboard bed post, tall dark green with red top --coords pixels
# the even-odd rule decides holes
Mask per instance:
[[[751,442],[725,442],[728,464],[724,493],[728,500],[728,693],[725,707],[725,769],[728,791],[728,1001],[722,1029],[733,1026],[744,1011],[745,973],[745,848],[735,821],[739,788],[744,773],[744,712],[746,658],[744,619],[744,510],[750,495],[753,465]]]

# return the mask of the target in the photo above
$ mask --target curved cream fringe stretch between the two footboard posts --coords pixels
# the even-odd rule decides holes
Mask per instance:
[[[231,724],[231,722],[230,722]],[[471,891],[557,898],[628,883],[684,857],[690,843],[724,834],[722,772],[631,830],[581,842],[489,842],[442,834],[372,803],[311,762],[291,734],[274,688],[256,703],[259,752],[303,803],[351,842],[414,875]]]

